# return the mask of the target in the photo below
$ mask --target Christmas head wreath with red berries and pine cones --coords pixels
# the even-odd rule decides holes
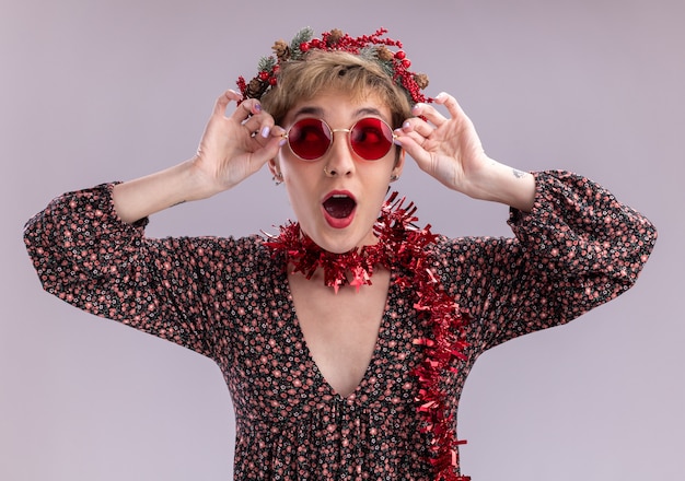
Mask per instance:
[[[285,40],[276,42],[271,47],[274,55],[259,60],[257,74],[249,82],[239,77],[237,87],[243,98],[262,98],[265,93],[278,85],[278,73],[283,63],[291,60],[304,60],[307,54],[314,50],[347,51],[379,63],[387,75],[404,90],[411,105],[431,102],[432,98],[421,92],[428,86],[428,75],[409,71],[411,61],[402,49],[402,42],[382,38],[386,33],[386,28],[379,28],[371,35],[355,38],[334,28],[330,32],[324,32],[321,38],[313,38],[312,28],[302,28],[289,44]]]

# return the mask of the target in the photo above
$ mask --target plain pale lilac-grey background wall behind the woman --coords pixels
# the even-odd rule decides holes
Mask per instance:
[[[685,479],[684,20],[682,0],[0,0],[0,479],[231,478],[219,368],[43,293],[22,226],[62,191],[189,157],[214,98],[305,25],[390,28],[491,156],[587,175],[659,227],[634,290],[481,356],[460,410],[464,472]],[[504,207],[414,166],[395,186],[436,232],[509,235]],[[149,234],[243,235],[289,216],[263,171]]]

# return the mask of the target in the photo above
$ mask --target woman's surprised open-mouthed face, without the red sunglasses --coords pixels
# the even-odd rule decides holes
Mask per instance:
[[[332,130],[349,129],[367,117],[391,124],[390,109],[376,96],[352,101],[342,93],[324,92],[295,104],[283,127],[288,130],[301,119],[315,118]],[[338,254],[376,242],[373,224],[391,177],[399,176],[404,165],[404,152],[397,159],[395,145],[381,159],[363,159],[350,148],[349,136],[334,131],[329,149],[314,161],[299,159],[286,144],[270,164],[282,174],[302,231],[323,249]]]

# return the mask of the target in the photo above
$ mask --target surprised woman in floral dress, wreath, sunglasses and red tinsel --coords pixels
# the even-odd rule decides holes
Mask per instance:
[[[384,33],[277,43],[219,97],[187,162],[66,193],[26,226],[48,292],[219,364],[239,480],[468,479],[455,420],[476,357],[616,297],[655,242],[591,180],[489,159],[454,97],[434,98],[440,114]],[[406,154],[509,206],[515,236],[417,226],[410,203],[386,199]],[[278,236],[144,236],[149,215],[265,164],[297,218]]]

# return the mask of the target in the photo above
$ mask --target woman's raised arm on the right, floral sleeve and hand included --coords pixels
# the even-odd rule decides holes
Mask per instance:
[[[436,103],[449,117],[417,104],[420,118],[396,130],[399,143],[451,189],[512,208],[515,238],[457,242],[439,268],[455,271],[448,278],[479,319],[483,349],[567,322],[636,282],[657,238],[647,219],[587,178],[522,173],[489,159],[454,97],[440,94]]]

